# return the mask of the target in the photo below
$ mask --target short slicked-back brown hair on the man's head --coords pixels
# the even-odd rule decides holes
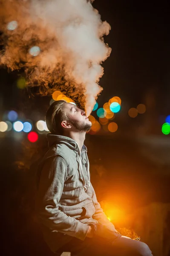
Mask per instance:
[[[52,134],[63,134],[61,122],[67,120],[65,111],[63,111],[64,100],[53,102],[46,112],[46,125]]]

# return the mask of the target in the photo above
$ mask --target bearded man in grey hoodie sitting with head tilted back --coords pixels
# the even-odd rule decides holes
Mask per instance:
[[[147,244],[115,230],[97,201],[84,145],[92,125],[85,112],[56,101],[46,113],[46,124],[49,151],[37,172],[36,212],[50,249],[72,256],[151,256]]]

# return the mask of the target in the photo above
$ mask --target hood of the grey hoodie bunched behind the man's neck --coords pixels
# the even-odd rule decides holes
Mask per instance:
[[[49,143],[49,148],[55,143],[55,144],[65,144],[72,150],[78,150],[78,144],[75,140],[62,136],[62,135],[55,135],[55,134],[47,134],[47,140]],[[82,149],[84,149],[87,152],[87,148],[85,145],[83,145]]]

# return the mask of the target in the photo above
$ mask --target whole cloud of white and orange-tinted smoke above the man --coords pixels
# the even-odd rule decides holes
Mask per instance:
[[[111,52],[103,40],[110,26],[91,2],[4,0],[2,13],[1,64],[12,70],[23,67],[28,86],[40,85],[43,93],[59,88],[69,96],[84,95],[89,115],[102,90],[101,62]],[[17,22],[15,29],[8,29],[11,21]],[[37,54],[32,54],[35,49]]]

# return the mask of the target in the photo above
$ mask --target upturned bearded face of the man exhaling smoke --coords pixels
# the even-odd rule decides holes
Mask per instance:
[[[86,117],[83,110],[71,103],[63,104],[63,111],[65,111],[68,122],[71,123],[73,129],[78,131],[89,131],[92,123]]]

